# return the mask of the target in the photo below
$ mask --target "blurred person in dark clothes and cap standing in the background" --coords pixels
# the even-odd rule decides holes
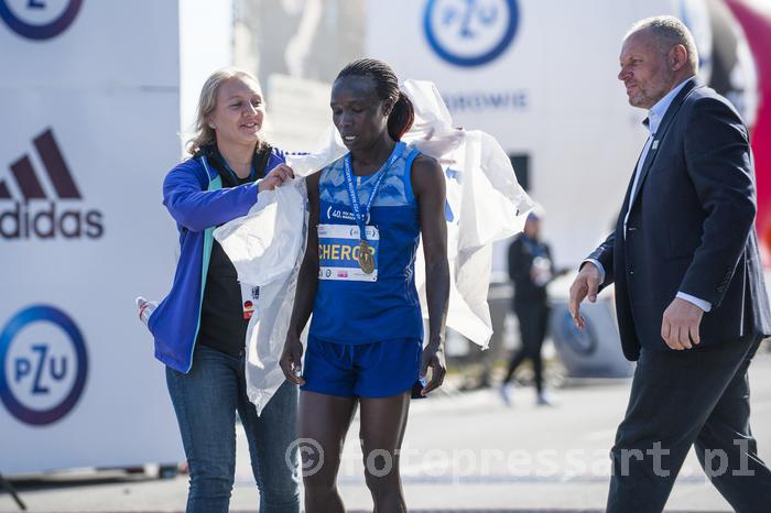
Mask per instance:
[[[523,232],[509,245],[509,277],[514,284],[512,306],[519,320],[521,346],[512,354],[500,386],[501,399],[507,405],[511,405],[512,402],[509,381],[525,360],[533,364],[536,404],[552,404],[543,388],[541,349],[549,328],[550,305],[546,285],[557,273],[552,261],[551,248],[541,240],[542,217],[541,208],[530,212]]]

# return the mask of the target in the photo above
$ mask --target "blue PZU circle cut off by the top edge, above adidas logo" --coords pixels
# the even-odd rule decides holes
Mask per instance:
[[[0,18],[28,40],[56,37],[75,21],[83,0],[0,0]]]

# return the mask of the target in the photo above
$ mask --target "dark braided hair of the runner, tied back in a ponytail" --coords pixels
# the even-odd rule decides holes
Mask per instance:
[[[415,109],[410,98],[399,89],[399,79],[391,66],[377,58],[360,58],[344,67],[335,81],[345,77],[371,77],[378,98],[393,101],[388,116],[388,134],[394,141],[400,141],[415,120]]]

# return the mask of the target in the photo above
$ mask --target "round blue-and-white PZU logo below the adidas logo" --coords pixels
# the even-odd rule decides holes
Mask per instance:
[[[23,423],[41,426],[65,416],[87,373],[83,335],[58,308],[30,306],[0,332],[0,399]]]

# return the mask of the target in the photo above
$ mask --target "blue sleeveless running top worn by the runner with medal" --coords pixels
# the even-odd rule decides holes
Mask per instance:
[[[423,338],[414,280],[420,223],[411,183],[412,162],[419,154],[417,150],[398,142],[389,161],[377,173],[354,176],[362,207],[379,185],[366,228],[374,260],[371,273],[362,271],[358,262],[360,230],[345,178],[345,160],[350,155],[322,170],[319,275],[311,323],[314,337],[341,343]]]

